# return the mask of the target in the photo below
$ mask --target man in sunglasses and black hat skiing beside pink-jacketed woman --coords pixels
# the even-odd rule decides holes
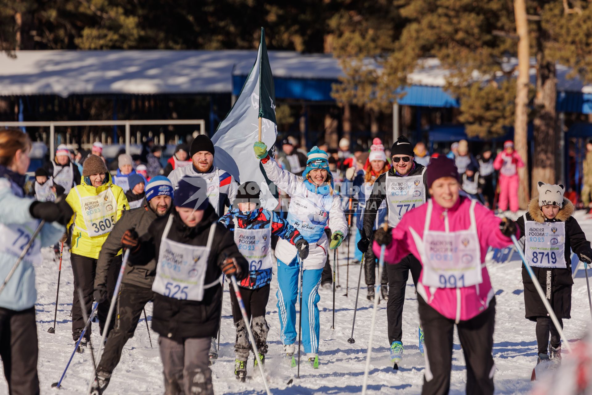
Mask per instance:
[[[403,217],[407,211],[425,203],[429,197],[426,184],[426,168],[413,159],[413,146],[405,136],[399,136],[392,144],[392,168],[381,174],[374,182],[372,195],[366,202],[365,214],[363,217],[363,229],[361,239],[358,242],[358,249],[362,252],[368,251],[378,208],[382,201],[387,201],[388,224],[391,227]],[[433,157],[432,157],[433,159]],[[403,192],[401,192],[403,191]],[[403,359],[403,303],[405,302],[405,290],[407,280],[411,271],[413,284],[417,287],[417,280],[422,271],[422,265],[417,258],[411,254],[402,257],[397,265],[387,265],[388,278],[388,302],[387,302],[387,323],[388,342],[391,348],[391,361],[398,364]],[[385,290],[381,290],[384,297]],[[418,329],[419,349],[423,353],[423,330]]]

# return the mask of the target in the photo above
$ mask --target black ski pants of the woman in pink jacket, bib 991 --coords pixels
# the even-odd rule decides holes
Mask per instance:
[[[426,370],[422,395],[444,395],[450,390],[452,335],[455,322],[438,313],[421,296],[419,319],[422,323]],[[493,394],[493,329],[496,322],[496,298],[487,309],[470,320],[456,324],[466,361],[466,394]]]

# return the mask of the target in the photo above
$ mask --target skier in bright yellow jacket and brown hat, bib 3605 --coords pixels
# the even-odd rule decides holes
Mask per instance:
[[[74,297],[72,300],[72,338],[77,341],[82,333],[85,322],[78,300],[79,289],[84,296],[86,315],[91,313],[93,287],[95,282],[96,261],[107,236],[113,229],[121,213],[128,208],[126,194],[121,187],[112,183],[111,175],[105,163],[96,155],[90,155],[83,163],[82,183],[76,185],[69,192],[67,203],[74,211],[74,216],[68,224],[70,241],[70,262],[74,273]],[[121,267],[121,251],[114,258],[109,268],[107,287],[94,292],[94,299],[99,302],[97,316],[99,328],[102,331],[107,320],[107,313],[111,303],[111,296],[115,290],[115,281]],[[110,331],[114,325],[115,316],[108,325]],[[107,332],[108,335],[108,332]],[[80,345],[86,346],[91,336],[89,327]]]

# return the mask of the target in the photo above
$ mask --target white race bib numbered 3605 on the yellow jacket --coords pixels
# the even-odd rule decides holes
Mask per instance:
[[[96,196],[81,197],[80,200],[88,235],[101,236],[111,232],[117,221],[117,201],[111,188]]]

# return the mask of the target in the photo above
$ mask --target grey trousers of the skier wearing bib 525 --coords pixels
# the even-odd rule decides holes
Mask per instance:
[[[183,343],[160,336],[160,359],[165,395],[213,395],[209,364],[211,338],[189,338]]]

